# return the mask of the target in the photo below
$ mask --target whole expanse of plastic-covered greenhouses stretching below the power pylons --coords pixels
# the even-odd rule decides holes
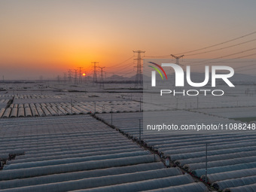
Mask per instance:
[[[143,103],[133,84],[0,84],[2,191],[249,191],[256,132],[145,132],[143,113],[172,123],[255,123],[255,87]],[[166,114],[168,111],[168,116]],[[169,116],[171,114],[171,116]],[[207,152],[206,152],[207,147]],[[207,155],[206,155],[207,153]],[[207,160],[207,161],[206,161]],[[206,172],[207,162],[207,172]]]

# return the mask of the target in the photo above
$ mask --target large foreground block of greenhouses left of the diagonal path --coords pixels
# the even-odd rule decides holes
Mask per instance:
[[[1,119],[1,191],[206,192],[90,115]]]

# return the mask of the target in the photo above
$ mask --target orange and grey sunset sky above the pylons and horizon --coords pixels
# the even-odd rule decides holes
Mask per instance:
[[[93,61],[105,66],[108,75],[135,75],[133,50],[166,56],[255,32],[255,8],[254,0],[0,0],[0,75],[55,78],[80,66],[90,74]],[[256,34],[219,47],[254,38]],[[256,41],[251,41],[184,59],[211,59],[254,47]],[[237,56],[252,53],[256,50]]]

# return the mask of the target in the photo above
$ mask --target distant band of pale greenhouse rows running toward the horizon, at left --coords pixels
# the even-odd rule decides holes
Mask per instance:
[[[142,111],[142,102],[53,102],[11,104],[9,108],[0,109],[0,117],[44,117],[69,114],[120,113]],[[145,111],[166,110],[162,106],[147,106]]]

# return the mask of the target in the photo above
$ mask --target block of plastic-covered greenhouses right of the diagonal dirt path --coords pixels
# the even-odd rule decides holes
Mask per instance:
[[[147,112],[154,119],[154,112]],[[166,112],[157,112],[165,117]],[[142,113],[114,114],[111,120],[106,114],[97,114],[101,120],[111,124],[121,133],[139,139],[139,119]],[[172,111],[165,118],[172,123],[193,124],[195,122],[239,123],[223,117],[193,111]],[[241,122],[240,122],[241,123]],[[156,151],[161,157],[169,157],[173,164],[190,172],[191,175],[207,181],[217,190],[254,191],[256,175],[256,132],[224,134],[156,134],[141,130],[144,145]],[[207,176],[206,176],[207,144]],[[240,189],[240,190],[239,190]]]

